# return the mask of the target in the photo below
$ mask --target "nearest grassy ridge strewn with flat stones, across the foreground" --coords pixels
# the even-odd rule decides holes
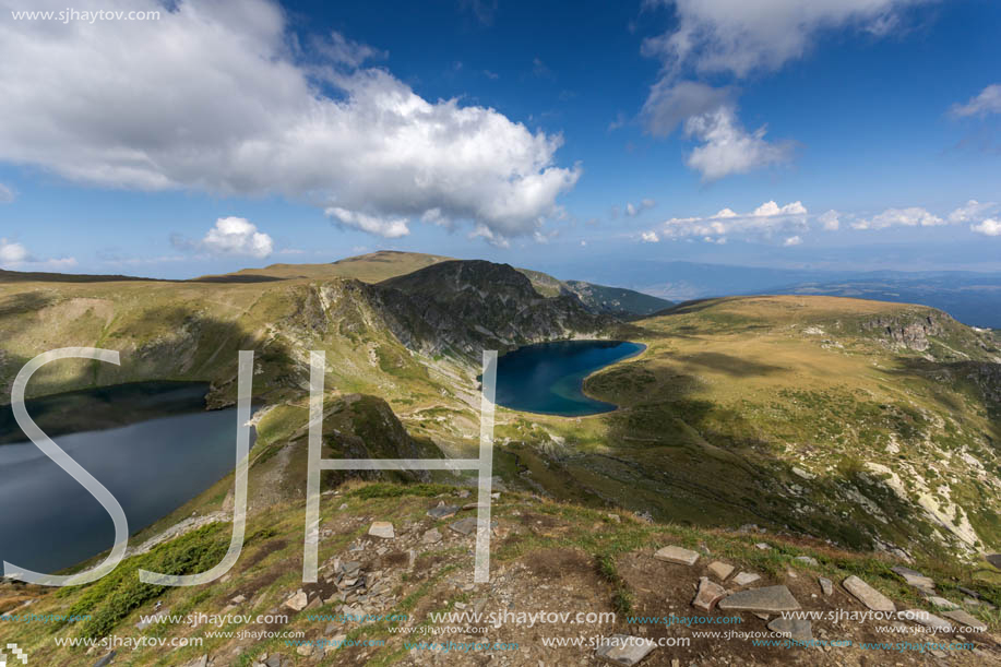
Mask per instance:
[[[126,659],[135,666],[187,667],[204,664],[200,663],[203,657],[212,660],[212,665],[254,665],[274,656],[279,657],[282,665],[288,660],[293,665],[416,666],[433,660],[479,664],[492,656],[504,664],[536,667],[540,660],[552,665],[579,664],[593,655],[588,647],[547,647],[541,638],[607,636],[621,632],[691,640],[687,646],[658,648],[644,662],[650,666],[666,667],[672,659],[682,664],[711,659],[746,665],[780,660],[865,665],[884,659],[902,665],[938,664],[938,658],[927,652],[862,650],[860,642],[887,641],[877,630],[880,623],[871,621],[841,622],[832,618],[814,621],[817,636],[851,642],[850,646],[822,652],[700,639],[694,632],[704,628],[665,626],[652,620],[672,614],[737,616],[740,630],[766,632],[766,621],[749,612],[692,609],[693,587],[700,575],[713,576],[707,571],[713,560],[762,577],[748,587],[787,586],[808,611],[862,612],[865,608],[837,585],[850,575],[862,577],[893,598],[901,609],[934,611],[918,591],[905,585],[891,570],[895,561],[886,555],[860,555],[833,548],[822,540],[787,534],[650,522],[629,512],[609,513],[503,489],[492,508],[496,525],[491,580],[489,584],[474,585],[470,583],[474,536],[463,536],[450,528],[455,520],[473,513],[460,510],[457,516],[445,520],[427,515],[439,503],[462,505],[475,498],[475,489],[473,495],[468,493],[473,486],[470,478],[463,480],[444,474],[438,474],[430,483],[401,484],[402,480],[373,481],[367,474],[353,473],[356,479],[345,480],[337,474],[324,473],[320,581],[302,584],[308,407],[306,400],[288,401],[259,419],[259,440],[251,453],[247,539],[230,573],[194,588],[146,585],[136,576],[140,568],[192,573],[218,561],[229,541],[226,520],[231,507],[231,475],[134,536],[131,540],[134,551],[112,574],[97,583],[59,591],[0,583],[0,614],[83,617],[73,623],[8,622],[3,626],[4,641],[17,643],[35,664],[45,665],[91,665],[109,654],[107,648],[88,652],[85,647],[59,646],[53,638],[99,640],[114,635],[119,641],[133,642],[141,638],[204,642],[117,651],[116,663]],[[432,448],[421,444],[421,438],[408,436],[380,400],[343,396],[337,392],[326,396],[323,443],[324,457],[437,455]],[[369,480],[359,481],[358,477]],[[367,533],[373,521],[392,522],[395,537],[369,537]],[[184,526],[183,529],[165,533],[178,525]],[[765,549],[759,546],[762,544],[766,545]],[[694,567],[656,560],[654,551],[666,545],[693,549],[701,555],[700,560]],[[338,589],[338,582],[345,580],[337,576],[337,567],[347,562],[357,563],[365,576],[364,587],[355,593],[343,586]],[[992,582],[1001,573],[987,563],[965,567],[949,560],[919,559],[913,564],[934,581],[937,593],[963,604],[989,627],[988,632],[967,633],[962,640],[955,638],[957,642],[969,643],[969,647],[950,652],[950,664],[999,664],[1001,644],[996,633],[1001,630],[1001,617],[984,605],[972,606],[964,600],[974,592],[982,602],[1001,605],[1001,586]],[[831,596],[820,593],[818,576],[835,582]],[[732,581],[727,585],[741,588]],[[286,602],[299,591],[308,604],[305,609],[300,606],[296,610]],[[429,633],[430,629],[449,632],[468,626],[467,621],[434,621],[431,612],[501,615],[505,610],[609,616],[587,624],[563,621],[529,626],[515,620],[497,626],[484,623],[485,633],[460,630],[446,636],[448,641],[464,644],[484,641],[517,644],[517,651],[461,655],[456,650],[437,655],[407,646],[407,642],[433,641],[436,635]],[[142,617],[157,611],[168,618],[140,627]],[[200,615],[203,619],[230,617],[216,624],[187,620]],[[234,615],[240,618],[234,619]],[[417,632],[405,634],[402,631],[406,629]],[[893,641],[898,639],[919,641],[910,635]],[[948,633],[937,635],[934,641],[953,639]],[[361,643],[366,641],[371,644]]]

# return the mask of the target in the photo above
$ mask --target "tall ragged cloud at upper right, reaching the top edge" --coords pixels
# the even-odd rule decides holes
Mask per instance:
[[[705,180],[786,162],[791,144],[766,141],[764,127],[744,130],[734,86],[720,81],[778,70],[802,57],[824,31],[894,34],[903,11],[926,1],[934,0],[646,0],[674,14],[671,29],[642,46],[663,64],[641,111],[646,130],[666,136],[683,123],[703,143],[687,164]]]

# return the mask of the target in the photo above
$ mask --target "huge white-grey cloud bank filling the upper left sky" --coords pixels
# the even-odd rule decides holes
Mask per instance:
[[[162,16],[0,22],[0,162],[99,187],[281,194],[359,221],[438,210],[497,237],[534,234],[581,175],[556,164],[559,134],[426,99],[364,64],[378,49],[300,41],[267,0],[74,8]]]

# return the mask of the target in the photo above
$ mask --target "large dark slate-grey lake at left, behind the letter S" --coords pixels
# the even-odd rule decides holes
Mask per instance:
[[[49,437],[118,499],[135,533],[234,469],[237,410],[205,412],[203,384],[123,388],[112,390],[110,405],[124,415],[142,414],[142,421]],[[51,396],[45,408],[58,414],[60,403],[80,407],[95,397],[107,404],[108,391],[73,392],[62,401]],[[151,418],[158,403],[160,416]],[[32,407],[28,402],[34,417]],[[36,421],[46,428],[45,418]],[[81,421],[79,414],[74,421]],[[31,442],[0,445],[0,560],[19,567],[56,572],[112,546],[115,531],[104,508]]]

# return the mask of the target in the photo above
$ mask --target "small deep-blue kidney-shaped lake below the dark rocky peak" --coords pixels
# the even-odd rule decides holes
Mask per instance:
[[[520,347],[498,359],[497,404],[564,417],[611,412],[617,406],[584,394],[584,378],[645,348],[622,341],[564,341]]]

